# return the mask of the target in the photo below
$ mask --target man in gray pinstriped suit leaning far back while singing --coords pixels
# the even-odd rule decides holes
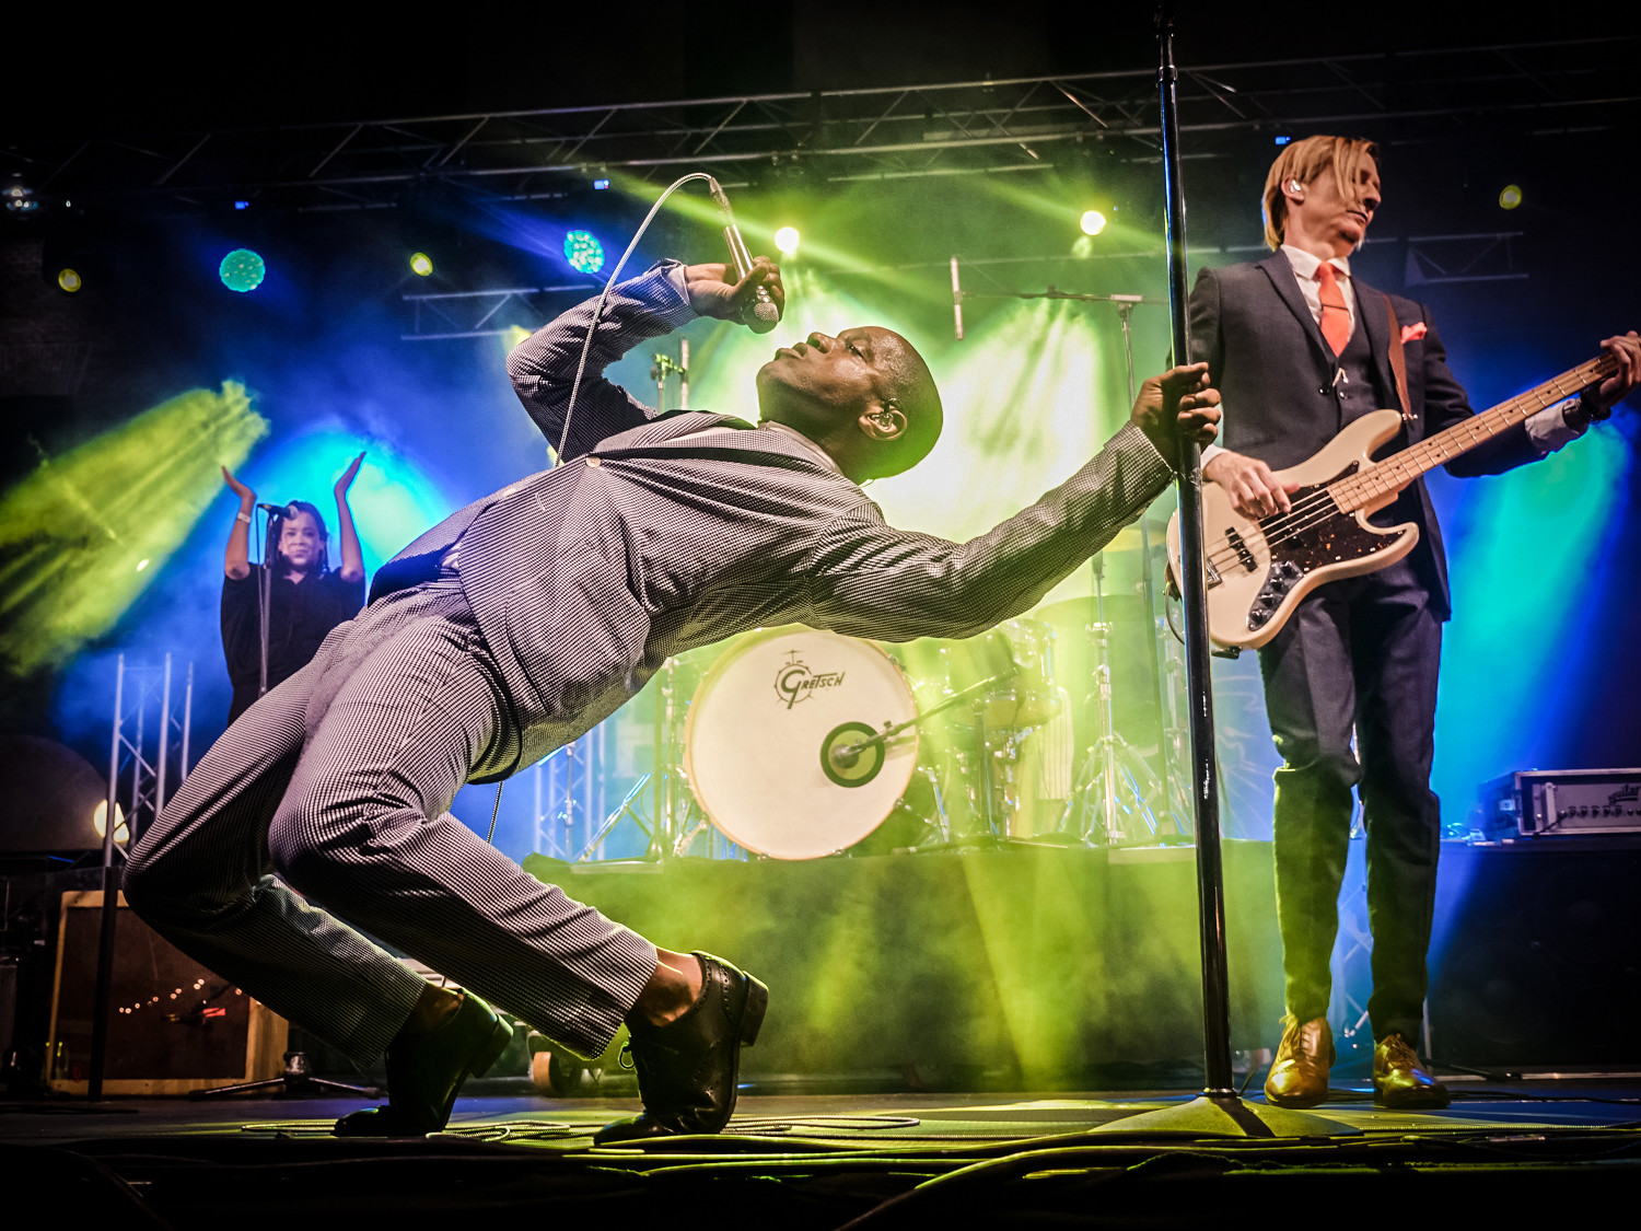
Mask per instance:
[[[1144,382],[1091,461],[993,530],[967,543],[896,530],[858,484],[914,466],[942,423],[899,335],[868,325],[779,348],[757,374],[757,427],[656,415],[602,379],[697,315],[742,320],[760,287],[784,309],[768,259],[725,276],[663,261],[614,287],[560,464],[384,566],[366,611],[230,727],[131,857],[133,908],[177,947],[359,1062],[386,1047],[387,1106],[338,1134],[441,1129],[510,1036],[486,1001],[583,1054],[627,1023],[643,1113],[601,1142],[722,1129],[765,986],[525,875],[450,816],[456,789],[586,732],[668,655],[747,629],[907,640],[1014,617],[1162,492],[1177,432],[1214,435],[1206,364],[1175,368]],[[592,317],[591,304],[565,313],[507,364],[555,443]]]

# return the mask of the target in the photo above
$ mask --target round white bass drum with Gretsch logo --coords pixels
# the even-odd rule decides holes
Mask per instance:
[[[735,642],[684,722],[684,771],[737,845],[819,858],[883,824],[917,765],[917,729],[858,747],[917,716],[911,688],[871,642],[775,629]]]

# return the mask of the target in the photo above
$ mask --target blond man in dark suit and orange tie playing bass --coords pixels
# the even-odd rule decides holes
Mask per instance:
[[[1382,455],[1472,415],[1429,310],[1351,277],[1351,253],[1380,204],[1377,153],[1337,136],[1285,146],[1265,177],[1265,241],[1275,251],[1203,269],[1191,294],[1191,358],[1208,361],[1224,399],[1226,446],[1204,451],[1203,476],[1244,517],[1288,512],[1296,487],[1273,471],[1305,461],[1370,410],[1403,415]],[[1405,402],[1392,371],[1396,341]],[[1497,474],[1536,461],[1605,419],[1641,381],[1641,340],[1630,333],[1603,346],[1618,358],[1615,376],[1454,458],[1449,471]],[[1265,1082],[1267,1100],[1282,1106],[1328,1096],[1328,960],[1352,788],[1367,814],[1374,1100],[1447,1105],[1416,1052],[1441,834],[1429,773],[1447,563],[1423,481],[1374,522],[1413,522],[1419,542],[1380,571],[1318,586],[1259,652],[1282,753],[1273,837],[1287,1016]]]

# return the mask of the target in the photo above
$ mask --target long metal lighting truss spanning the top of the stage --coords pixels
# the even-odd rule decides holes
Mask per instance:
[[[1641,38],[1183,69],[1180,131],[1193,153],[1249,133],[1387,133],[1405,121],[1516,133],[1634,131]],[[395,205],[455,184],[494,197],[555,195],[594,176],[709,169],[742,181],[858,181],[1027,169],[1067,143],[1119,154],[1157,146],[1155,72],[760,94],[533,112],[20,141],[7,172],[54,197],[199,208],[233,199],[295,210]]]

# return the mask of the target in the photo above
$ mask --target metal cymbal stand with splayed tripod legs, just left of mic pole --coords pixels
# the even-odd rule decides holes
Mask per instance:
[[[1083,768],[1065,803],[1062,827],[1090,845],[1121,847],[1155,840],[1157,814],[1147,803],[1160,786],[1145,758],[1129,747],[1116,729],[1111,709],[1111,625],[1106,622],[1104,570],[1095,558],[1095,624],[1088,638],[1095,647],[1095,714],[1098,735],[1083,757]],[[1144,826],[1144,831],[1140,831]]]

